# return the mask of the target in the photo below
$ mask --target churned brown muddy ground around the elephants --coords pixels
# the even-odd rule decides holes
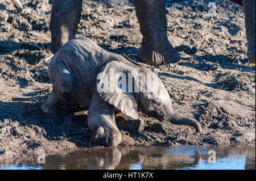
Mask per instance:
[[[51,91],[43,58],[51,55],[48,0],[0,3],[0,161],[88,148],[86,111],[60,102],[56,115],[40,106]],[[40,9],[44,3],[44,11]],[[137,61],[142,35],[132,1],[84,1],[77,37]],[[111,1],[117,2],[117,1]],[[181,54],[158,72],[177,112],[199,120],[203,133],[142,113],[141,133],[122,130],[121,145],[255,144],[255,65],[247,62],[244,13],[230,1],[167,1],[168,38]]]

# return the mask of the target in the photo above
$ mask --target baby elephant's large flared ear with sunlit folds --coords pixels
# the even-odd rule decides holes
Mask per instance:
[[[137,120],[138,105],[133,92],[133,77],[130,76],[135,71],[138,71],[136,67],[112,61],[101,69],[96,84],[102,99]]]

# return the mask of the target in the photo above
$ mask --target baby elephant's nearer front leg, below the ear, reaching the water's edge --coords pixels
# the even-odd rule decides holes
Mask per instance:
[[[115,107],[105,102],[94,91],[88,110],[88,126],[94,130],[91,142],[101,146],[117,146],[121,142],[121,133],[115,124]]]

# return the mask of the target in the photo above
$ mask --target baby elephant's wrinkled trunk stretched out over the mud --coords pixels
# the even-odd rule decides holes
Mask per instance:
[[[181,116],[179,113],[173,112],[169,119],[170,119],[170,122],[173,124],[188,125],[188,126],[194,127],[196,129],[196,132],[199,132],[199,133],[202,132],[200,123],[191,117]]]

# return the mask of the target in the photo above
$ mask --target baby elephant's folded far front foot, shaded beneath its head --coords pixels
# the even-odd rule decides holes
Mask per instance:
[[[129,119],[123,116],[115,116],[115,122],[118,129],[126,130],[128,132],[142,132],[145,127],[145,123],[142,119]]]

